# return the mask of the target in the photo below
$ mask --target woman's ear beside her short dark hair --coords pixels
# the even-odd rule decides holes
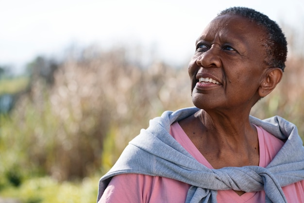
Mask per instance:
[[[258,90],[261,98],[266,97],[281,81],[283,71],[281,68],[267,68],[263,76]]]

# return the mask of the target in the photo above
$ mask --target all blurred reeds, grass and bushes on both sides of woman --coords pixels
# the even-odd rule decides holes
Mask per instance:
[[[0,97],[11,102],[0,100],[1,198],[96,202],[99,178],[149,119],[192,106],[187,64],[143,63],[132,51],[92,46],[61,61],[40,56],[18,77],[2,68]],[[302,137],[303,64],[303,54],[291,51],[283,81],[252,111],[294,122]]]

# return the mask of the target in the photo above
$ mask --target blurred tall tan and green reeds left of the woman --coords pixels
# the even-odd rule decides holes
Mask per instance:
[[[190,98],[172,94],[188,89],[184,72],[162,63],[138,68],[123,52],[88,49],[81,59],[67,59],[52,85],[35,66],[30,91],[0,120],[0,159],[8,163],[0,175],[7,182],[18,185],[34,174],[66,181],[105,171],[150,118],[187,106]],[[13,168],[23,174],[8,172]]]

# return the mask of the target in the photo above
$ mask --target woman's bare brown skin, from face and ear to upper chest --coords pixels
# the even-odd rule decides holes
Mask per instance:
[[[223,15],[197,40],[188,73],[192,101],[201,110],[179,124],[214,169],[259,165],[249,114],[282,78],[280,68],[264,62],[266,35],[245,17]]]

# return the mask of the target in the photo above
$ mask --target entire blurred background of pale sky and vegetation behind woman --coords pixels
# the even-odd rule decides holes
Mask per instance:
[[[304,1],[10,0],[0,3],[0,203],[96,202],[128,141],[165,110],[192,106],[187,63],[231,6],[275,20],[283,81],[258,118],[304,126]]]

